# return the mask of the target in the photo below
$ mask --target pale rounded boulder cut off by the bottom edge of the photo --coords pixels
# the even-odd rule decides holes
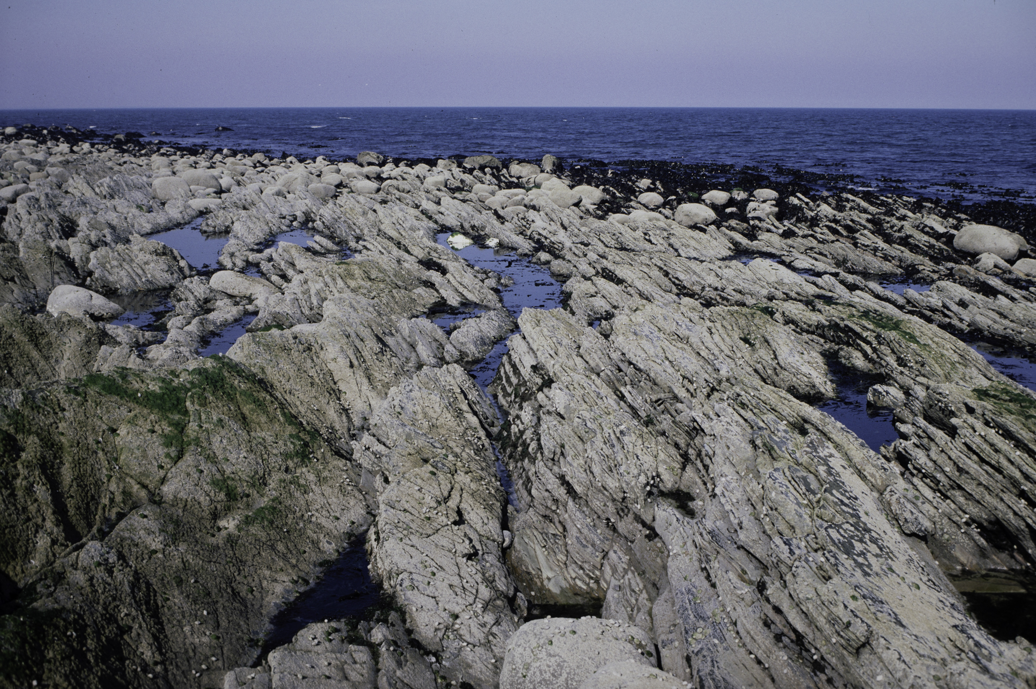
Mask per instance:
[[[613,620],[534,620],[508,641],[500,689],[579,689],[617,661],[655,667],[654,648],[648,632]]]

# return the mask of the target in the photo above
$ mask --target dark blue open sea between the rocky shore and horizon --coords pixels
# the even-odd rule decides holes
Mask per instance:
[[[6,110],[71,124],[296,157],[495,153],[659,160],[857,175],[862,189],[969,200],[1036,197],[1036,111],[781,108],[213,108]],[[217,126],[231,132],[215,132]],[[154,133],[153,135],[151,133]],[[1027,198],[1028,197],[1028,198]]]

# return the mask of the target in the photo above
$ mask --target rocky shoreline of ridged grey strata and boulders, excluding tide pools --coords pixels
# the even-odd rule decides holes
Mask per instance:
[[[959,582],[1036,558],[1036,395],[961,340],[1036,345],[1032,207],[119,136],[4,130],[0,685],[1036,684]],[[219,269],[148,238],[199,218]],[[835,368],[898,440],[816,408]],[[377,613],[261,658],[362,537]]]

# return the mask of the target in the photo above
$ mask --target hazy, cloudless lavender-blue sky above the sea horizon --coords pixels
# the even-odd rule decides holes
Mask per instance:
[[[7,0],[0,109],[1036,109],[1036,0]]]

